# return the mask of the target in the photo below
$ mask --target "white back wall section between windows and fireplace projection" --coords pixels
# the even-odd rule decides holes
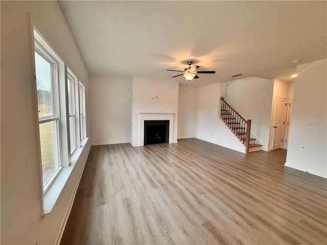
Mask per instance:
[[[131,83],[129,79],[90,76],[91,144],[130,142]]]

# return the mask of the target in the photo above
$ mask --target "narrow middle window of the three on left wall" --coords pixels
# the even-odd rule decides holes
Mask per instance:
[[[76,149],[75,81],[77,79],[74,78],[74,75],[70,70],[68,70],[67,73],[69,138],[71,144],[71,153],[73,153]]]

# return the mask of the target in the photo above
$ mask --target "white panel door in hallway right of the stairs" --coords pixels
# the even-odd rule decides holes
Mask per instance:
[[[286,106],[286,98],[276,97],[271,150],[282,148],[285,131]]]

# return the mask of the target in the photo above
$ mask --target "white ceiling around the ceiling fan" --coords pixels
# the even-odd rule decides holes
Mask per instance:
[[[90,75],[171,78],[191,86],[289,80],[299,59],[326,58],[326,1],[59,1]],[[230,76],[243,76],[232,79]]]

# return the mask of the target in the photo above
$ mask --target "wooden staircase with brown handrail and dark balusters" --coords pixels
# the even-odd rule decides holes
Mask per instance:
[[[262,145],[256,144],[254,138],[250,138],[251,120],[245,120],[224,99],[220,98],[219,117],[235,136],[245,145],[245,153],[260,151]]]

